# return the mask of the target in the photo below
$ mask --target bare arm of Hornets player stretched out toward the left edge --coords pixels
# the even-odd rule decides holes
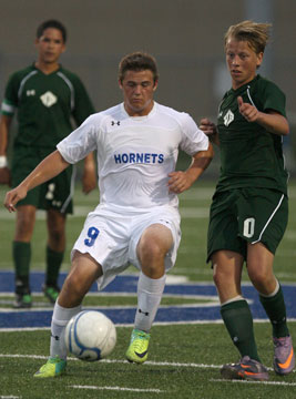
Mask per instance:
[[[9,212],[16,211],[16,204],[27,196],[28,191],[57,176],[69,166],[59,151],[54,151],[18,185],[6,195],[4,206]]]

